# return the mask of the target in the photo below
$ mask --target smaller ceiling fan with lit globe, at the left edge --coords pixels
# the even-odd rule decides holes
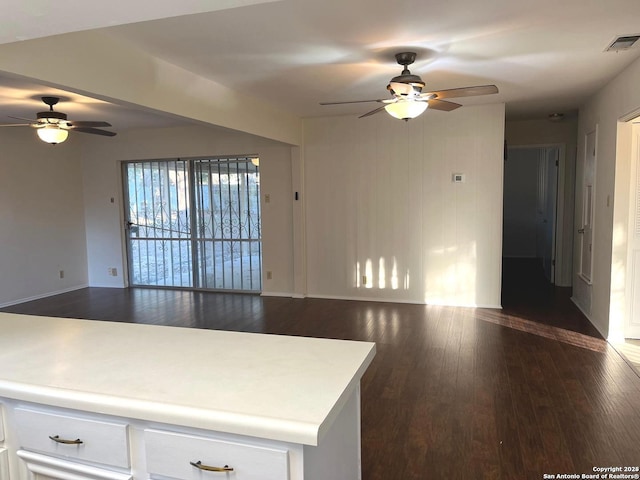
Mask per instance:
[[[108,122],[88,122],[88,121],[70,121],[67,120],[67,114],[62,112],[56,112],[53,110],[53,106],[56,105],[60,99],[58,97],[41,97],[42,101],[49,106],[49,110],[46,112],[38,112],[36,120],[30,118],[21,117],[9,117],[17,120],[26,120],[29,123],[13,123],[4,124],[0,127],[33,127],[36,128],[38,137],[43,142],[55,145],[62,143],[67,139],[69,131],[73,130],[80,133],[90,133],[93,135],[103,135],[105,137],[113,137],[115,132],[108,130],[101,130],[97,127],[110,127]]]

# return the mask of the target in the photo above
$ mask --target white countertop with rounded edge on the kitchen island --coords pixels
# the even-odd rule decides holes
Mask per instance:
[[[0,397],[317,445],[375,344],[0,313]]]

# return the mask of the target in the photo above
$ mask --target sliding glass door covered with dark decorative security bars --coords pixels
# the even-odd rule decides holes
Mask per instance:
[[[250,157],[126,163],[130,283],[260,291],[256,163]]]

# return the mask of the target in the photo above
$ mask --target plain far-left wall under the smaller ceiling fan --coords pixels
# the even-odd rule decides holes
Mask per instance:
[[[86,286],[78,142],[3,128],[0,146],[0,305]]]

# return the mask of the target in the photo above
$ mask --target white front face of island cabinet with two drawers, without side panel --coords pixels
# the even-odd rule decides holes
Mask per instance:
[[[290,454],[301,452],[294,445],[6,402],[11,448],[0,448],[0,480],[9,480],[9,453],[19,480],[130,480],[133,471],[151,479],[300,478],[290,474]]]

